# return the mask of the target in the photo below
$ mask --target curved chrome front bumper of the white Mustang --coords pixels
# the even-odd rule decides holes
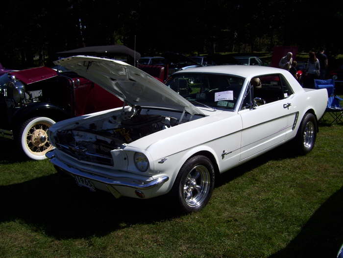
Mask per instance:
[[[153,180],[137,180],[132,178],[124,178],[124,177],[108,177],[107,175],[96,175],[91,172],[82,171],[80,169],[74,168],[69,166],[63,162],[61,162],[58,158],[54,156],[54,150],[49,151],[46,154],[47,158],[50,159],[50,162],[61,169],[80,177],[84,177],[87,179],[95,180],[100,183],[110,185],[110,186],[123,186],[123,187],[130,187],[136,188],[140,190],[146,190],[149,188],[154,188],[159,185],[163,185],[169,180],[168,176],[162,176]]]

